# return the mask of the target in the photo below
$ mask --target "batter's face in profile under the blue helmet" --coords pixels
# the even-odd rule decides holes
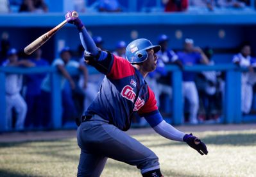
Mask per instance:
[[[157,55],[153,49],[148,49],[148,59],[142,63],[144,71],[151,72],[157,68]]]

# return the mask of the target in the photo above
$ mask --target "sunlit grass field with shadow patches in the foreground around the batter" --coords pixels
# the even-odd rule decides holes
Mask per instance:
[[[207,144],[201,156],[182,142],[135,135],[160,159],[164,176],[256,176],[256,130],[196,132]],[[0,144],[0,176],[76,176],[76,139]],[[101,176],[140,176],[136,167],[108,159]]]

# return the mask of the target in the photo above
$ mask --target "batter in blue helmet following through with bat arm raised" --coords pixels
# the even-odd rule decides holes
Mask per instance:
[[[126,47],[125,60],[96,47],[81,20],[71,13],[65,17],[77,26],[81,43],[87,46],[86,62],[106,75],[78,127],[81,148],[78,176],[99,176],[107,158],[136,165],[142,176],[162,176],[157,155],[124,132],[130,128],[135,114],[144,116],[163,137],[185,141],[201,155],[207,155],[201,140],[176,130],[162,119],[154,94],[144,81],[148,72],[157,67],[155,53],[160,46],[153,46],[145,38],[133,40]]]

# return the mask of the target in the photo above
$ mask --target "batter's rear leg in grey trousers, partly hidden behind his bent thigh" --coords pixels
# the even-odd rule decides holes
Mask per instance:
[[[107,162],[107,157],[87,153],[81,149],[77,176],[98,177]]]

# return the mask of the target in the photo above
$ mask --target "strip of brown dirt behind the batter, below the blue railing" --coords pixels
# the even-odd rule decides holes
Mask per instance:
[[[256,130],[256,124],[228,124],[228,125],[196,125],[175,126],[178,130],[191,133],[195,131],[232,131],[232,130]],[[129,135],[142,135],[155,133],[152,128],[132,128],[127,131]],[[52,140],[75,138],[76,130],[56,131],[25,131],[0,133],[0,142],[23,142],[33,140]]]

